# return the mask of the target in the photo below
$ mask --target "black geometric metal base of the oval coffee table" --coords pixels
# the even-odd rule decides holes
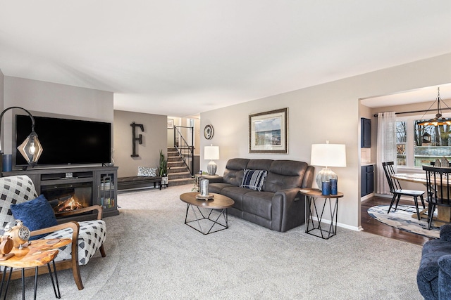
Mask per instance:
[[[194,220],[188,221],[188,213],[190,211],[190,207],[191,210],[195,216]],[[197,208],[197,212],[199,214],[196,213],[196,208]],[[208,210],[208,209],[206,209]],[[219,211],[218,216],[216,217],[216,219],[211,219],[211,214],[213,213],[214,210],[221,210]],[[204,214],[204,212],[201,211],[200,207],[195,207],[192,204],[187,204],[186,206],[186,215],[185,215],[185,224],[187,226],[190,226],[191,228],[194,228],[195,230],[199,231],[199,233],[202,233],[203,235],[208,235],[209,233],[216,233],[218,231],[224,230],[228,228],[228,214],[227,214],[227,209],[209,209],[209,211],[206,211],[208,214]],[[221,218],[221,216],[223,216],[224,219],[224,223],[219,223],[218,220]],[[202,220],[208,220],[209,223],[211,223],[211,227],[208,230],[204,230],[202,228],[201,225],[201,221]],[[191,223],[197,223],[197,227],[192,226]],[[214,226],[218,227],[218,229],[213,230]],[[208,228],[208,226],[207,226]],[[213,231],[212,231],[213,230]]]

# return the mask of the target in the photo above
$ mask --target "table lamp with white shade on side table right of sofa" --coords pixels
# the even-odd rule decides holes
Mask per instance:
[[[346,148],[342,144],[313,144],[311,145],[310,164],[324,166],[316,175],[316,184],[323,195],[337,194],[338,176],[328,167],[346,167]]]

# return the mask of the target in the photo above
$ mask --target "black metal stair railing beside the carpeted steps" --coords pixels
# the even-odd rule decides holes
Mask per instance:
[[[191,176],[194,176],[194,129],[174,126],[174,148],[183,160]]]

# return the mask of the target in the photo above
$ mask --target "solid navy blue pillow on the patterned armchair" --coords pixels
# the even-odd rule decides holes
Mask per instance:
[[[14,218],[22,221],[30,231],[58,225],[54,209],[51,208],[44,195],[27,202],[11,204],[11,211]],[[37,240],[45,236],[35,235],[30,237],[30,240]]]

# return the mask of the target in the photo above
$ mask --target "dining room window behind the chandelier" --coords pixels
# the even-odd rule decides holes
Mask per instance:
[[[418,125],[424,119],[431,118],[428,116],[397,117],[396,159],[398,166],[421,167],[442,157],[446,157],[451,162],[451,126]]]

